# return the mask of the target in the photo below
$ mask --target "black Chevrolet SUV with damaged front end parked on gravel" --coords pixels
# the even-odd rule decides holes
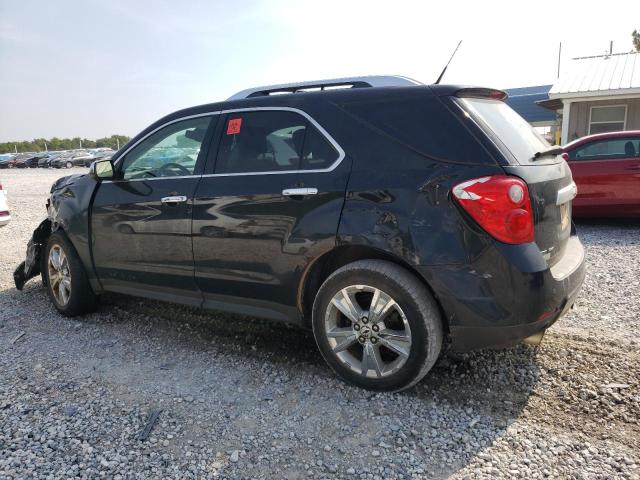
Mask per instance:
[[[310,327],[373,390],[539,340],[584,278],[576,188],[505,97],[363,77],[173,113],[53,185],[16,286],[41,271],[65,315],[109,291]]]

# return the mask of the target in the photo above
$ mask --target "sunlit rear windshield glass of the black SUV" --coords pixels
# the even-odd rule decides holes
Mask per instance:
[[[530,163],[537,152],[549,148],[549,142],[506,103],[484,98],[459,100],[483,128],[493,132],[518,163]]]

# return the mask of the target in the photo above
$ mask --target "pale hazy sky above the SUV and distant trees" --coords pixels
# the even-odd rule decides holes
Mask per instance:
[[[134,135],[244,88],[374,74],[509,88],[630,51],[640,1],[0,0],[0,142]]]

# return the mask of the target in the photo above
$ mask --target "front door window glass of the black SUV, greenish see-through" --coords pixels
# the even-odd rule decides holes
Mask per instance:
[[[125,180],[193,175],[211,117],[172,123],[145,138],[122,161]]]

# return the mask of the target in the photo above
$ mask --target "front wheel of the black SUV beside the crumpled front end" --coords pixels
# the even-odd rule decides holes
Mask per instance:
[[[62,275],[56,272],[52,250],[61,251],[66,259],[62,262]],[[58,253],[58,255],[60,254]],[[64,233],[55,232],[51,234],[40,265],[42,282],[47,288],[47,293],[53,305],[60,313],[67,317],[75,317],[95,310],[98,297],[89,284],[89,279],[76,249]],[[62,278],[63,281],[56,282],[56,279],[52,279],[51,277],[54,274],[58,278]],[[51,280],[53,280],[53,285]],[[64,295],[63,292],[67,292],[67,294]]]

